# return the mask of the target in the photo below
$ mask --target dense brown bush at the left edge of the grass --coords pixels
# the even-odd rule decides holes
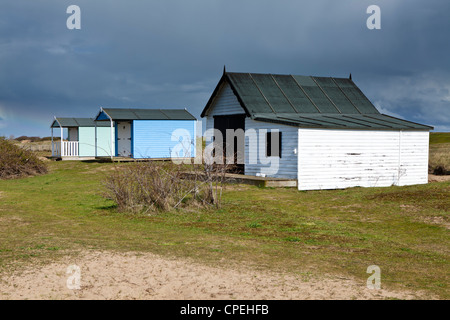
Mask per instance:
[[[47,166],[32,151],[0,137],[0,179],[47,173]]]

